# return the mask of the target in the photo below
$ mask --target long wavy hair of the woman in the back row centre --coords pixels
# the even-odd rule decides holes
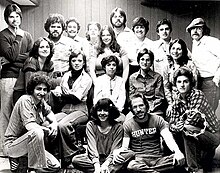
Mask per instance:
[[[100,46],[98,48],[98,52],[99,52],[98,55],[104,53],[104,49],[106,47],[105,43],[102,40],[102,34],[103,34],[103,32],[105,30],[107,30],[110,33],[111,37],[112,37],[112,40],[111,40],[111,43],[110,43],[111,51],[113,53],[119,52],[120,49],[121,49],[121,46],[118,44],[118,42],[116,40],[116,36],[115,36],[114,30],[112,29],[111,26],[105,25],[105,26],[102,27],[102,29],[100,31],[100,36],[99,36],[100,37]]]

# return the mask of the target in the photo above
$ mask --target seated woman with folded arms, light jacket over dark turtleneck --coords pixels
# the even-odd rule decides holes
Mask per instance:
[[[62,100],[62,110],[55,114],[61,136],[62,167],[68,166],[72,157],[79,152],[75,129],[88,121],[86,100],[92,86],[92,79],[84,70],[86,57],[81,51],[71,53],[69,66],[70,71],[64,74],[60,86],[52,91]]]

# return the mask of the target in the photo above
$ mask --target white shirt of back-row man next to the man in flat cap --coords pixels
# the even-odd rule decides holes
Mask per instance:
[[[165,42],[162,39],[156,40],[153,42],[152,51],[154,53],[154,71],[163,75],[163,69],[168,65],[168,55],[169,46],[172,39],[169,43]]]

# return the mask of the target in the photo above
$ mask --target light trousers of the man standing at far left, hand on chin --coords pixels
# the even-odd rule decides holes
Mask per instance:
[[[13,92],[16,78],[0,79],[1,90],[1,112],[0,112],[0,149],[3,144],[3,136],[8,127],[9,119],[13,109]]]

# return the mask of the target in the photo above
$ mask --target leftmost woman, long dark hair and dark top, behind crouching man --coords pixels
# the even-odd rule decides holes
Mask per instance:
[[[14,86],[13,101],[14,103],[20,96],[26,93],[27,83],[31,75],[41,72],[49,77],[54,70],[51,58],[54,53],[54,44],[47,37],[40,37],[35,42],[26,59],[20,75]],[[21,74],[22,73],[22,74]]]

